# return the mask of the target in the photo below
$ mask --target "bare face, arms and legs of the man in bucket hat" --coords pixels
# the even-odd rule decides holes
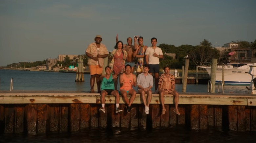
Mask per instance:
[[[100,42],[102,41],[101,38],[97,37],[95,38],[95,43],[96,43],[96,47],[99,48],[100,47]],[[108,54],[104,54],[104,55],[97,55],[96,57],[92,56],[90,53],[88,52],[85,52],[85,55],[88,56],[89,58],[95,60],[95,61],[98,61],[99,58],[105,58],[108,56]],[[91,93],[94,93],[94,83],[95,83],[95,78],[96,78],[96,83],[97,83],[97,88],[98,88],[98,93],[100,93],[100,74],[94,74],[94,75],[91,75],[91,78],[90,78],[90,85],[91,85]]]

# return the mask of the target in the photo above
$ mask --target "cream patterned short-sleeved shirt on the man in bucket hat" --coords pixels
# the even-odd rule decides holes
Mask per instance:
[[[94,57],[96,57],[98,54],[99,55],[105,55],[105,54],[108,55],[108,50],[107,50],[106,46],[104,44],[100,43],[100,47],[99,47],[99,51],[98,51],[95,42],[89,44],[89,46],[87,47],[85,52],[91,54]],[[99,57],[98,62],[99,62],[99,66],[103,67],[104,58]],[[98,62],[95,61],[94,59],[91,59],[88,57],[88,65],[97,65]]]

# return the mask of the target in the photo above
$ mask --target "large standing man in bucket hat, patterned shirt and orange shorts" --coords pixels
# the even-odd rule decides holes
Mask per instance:
[[[90,93],[94,93],[94,82],[96,78],[98,93],[100,93],[100,80],[99,77],[102,74],[104,58],[108,56],[108,50],[104,44],[101,43],[102,38],[100,35],[96,35],[95,42],[89,44],[85,51],[85,55],[88,56],[88,65],[90,68]]]

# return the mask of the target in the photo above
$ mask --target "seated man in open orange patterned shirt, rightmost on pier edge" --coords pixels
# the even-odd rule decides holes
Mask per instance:
[[[163,67],[164,73],[161,74],[158,82],[160,102],[162,105],[162,115],[165,114],[166,109],[164,107],[164,95],[172,94],[174,96],[175,109],[173,110],[176,114],[180,115],[178,110],[179,93],[175,90],[175,79],[172,74],[170,74],[170,69],[168,66]]]

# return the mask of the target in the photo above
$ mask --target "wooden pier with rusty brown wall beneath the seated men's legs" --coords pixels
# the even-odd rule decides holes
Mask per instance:
[[[256,95],[230,93],[180,93],[179,111],[173,96],[165,95],[167,112],[161,115],[159,95],[153,94],[149,115],[139,94],[131,113],[120,99],[105,97],[106,114],[100,113],[100,95],[83,91],[0,90],[0,134],[64,133],[85,128],[167,128],[185,125],[191,130],[215,126],[220,130],[256,131]]]

